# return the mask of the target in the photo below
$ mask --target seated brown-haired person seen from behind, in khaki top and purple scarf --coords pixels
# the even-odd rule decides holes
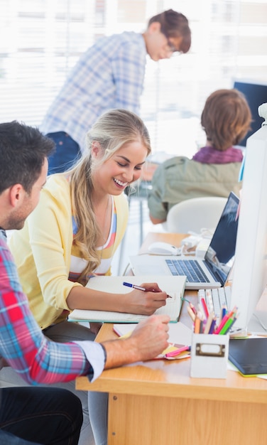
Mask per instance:
[[[206,145],[188,159],[175,156],[158,166],[148,192],[148,208],[153,224],[164,223],[168,211],[182,200],[202,196],[227,198],[241,188],[239,171],[243,154],[239,144],[251,124],[251,111],[238,90],[212,92],[201,115]]]

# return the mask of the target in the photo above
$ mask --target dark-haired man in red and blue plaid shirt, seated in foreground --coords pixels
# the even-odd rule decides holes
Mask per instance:
[[[19,283],[6,230],[21,229],[38,204],[53,147],[38,129],[16,121],[0,124],[0,368],[11,366],[32,385],[68,382],[78,375],[94,380],[104,368],[149,360],[168,344],[166,316],[151,316],[129,339],[104,344],[55,343],[40,330]],[[81,424],[80,400],[67,390],[1,389],[1,444],[77,444]]]

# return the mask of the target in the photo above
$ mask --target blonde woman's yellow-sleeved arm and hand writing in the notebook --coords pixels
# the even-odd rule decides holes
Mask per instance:
[[[62,181],[61,181],[62,182]],[[64,183],[63,183],[64,185]],[[31,249],[40,282],[43,299],[60,309],[96,309],[151,315],[165,305],[165,292],[134,290],[130,294],[112,294],[92,291],[70,282],[70,255],[72,247],[72,220],[68,189],[60,191],[58,201],[48,190],[42,192],[40,203],[28,218]],[[121,197],[121,205],[126,200]],[[118,203],[117,212],[123,213]],[[118,215],[118,224],[123,218]],[[121,232],[121,229],[119,230]],[[123,232],[121,232],[123,235]]]

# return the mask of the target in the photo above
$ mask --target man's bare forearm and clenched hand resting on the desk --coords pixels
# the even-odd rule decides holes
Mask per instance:
[[[151,360],[162,353],[168,346],[169,321],[167,315],[153,315],[138,323],[129,338],[104,342],[107,351],[105,369]]]

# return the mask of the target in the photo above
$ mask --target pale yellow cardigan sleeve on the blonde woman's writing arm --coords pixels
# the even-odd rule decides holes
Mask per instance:
[[[51,179],[28,217],[28,242],[40,296],[49,306],[68,309],[66,299],[70,290],[82,287],[68,279],[73,239],[70,187],[62,177]]]

